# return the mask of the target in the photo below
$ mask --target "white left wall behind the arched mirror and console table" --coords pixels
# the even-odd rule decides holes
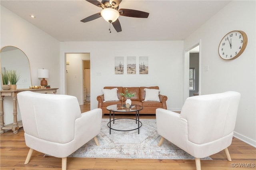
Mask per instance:
[[[1,49],[12,45],[20,48],[27,55],[30,62],[32,85],[40,85],[37,70],[45,68],[49,69],[48,84],[51,87],[60,87],[60,61],[58,57],[60,56],[60,42],[3,6],[1,6],[0,14]],[[5,125],[13,122],[12,112],[12,98],[4,97]],[[20,120],[18,110],[18,121]]]

